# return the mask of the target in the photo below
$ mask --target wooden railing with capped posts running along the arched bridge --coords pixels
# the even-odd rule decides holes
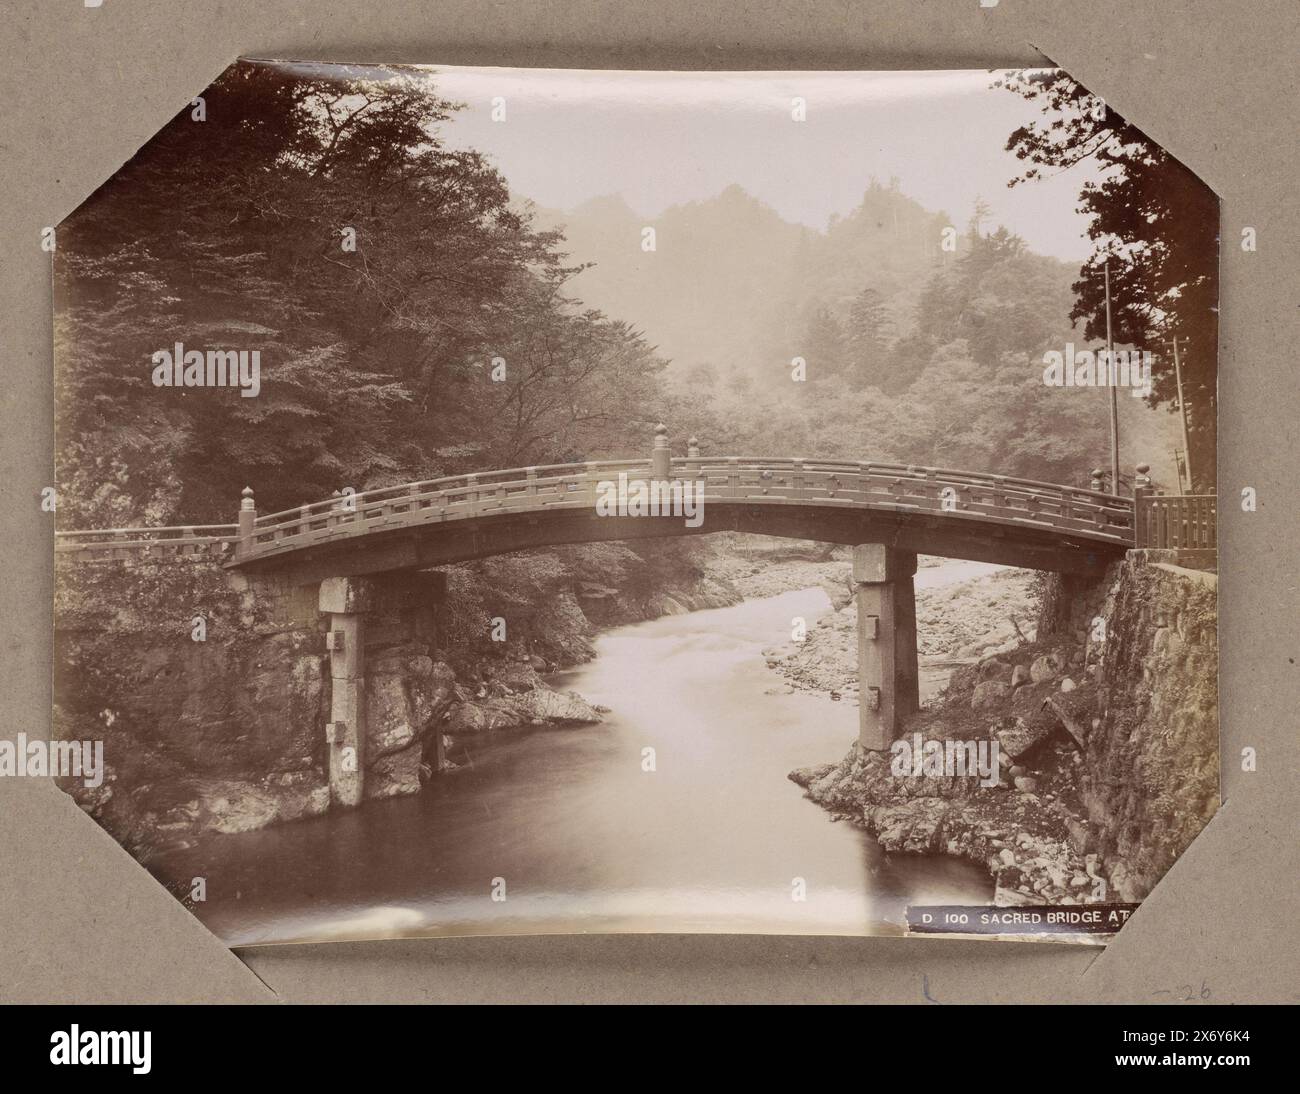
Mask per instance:
[[[235,525],[58,533],[56,550],[78,557],[126,557],[169,550],[176,553],[231,552],[237,561],[400,528],[552,508],[594,508],[599,485],[620,473],[629,479],[702,483],[705,502],[746,504],[859,505],[890,512],[933,512],[948,518],[1067,533],[1130,546],[1140,537],[1192,543],[1213,541],[1213,499],[1145,499],[1149,479],[1138,468],[1138,499],[1106,494],[1100,472],[1093,489],[1014,476],[852,460],[785,456],[703,457],[694,438],[688,455],[671,457],[663,426],[655,429],[650,459],[547,464],[476,474],[446,476],[334,496],[259,515],[244,489]],[[1144,494],[1145,491],[1145,494]],[[1145,499],[1145,500],[1144,500]],[[1204,503],[1209,503],[1206,509]],[[1196,503],[1196,504],[1191,504]],[[1141,517],[1135,505],[1140,505]],[[1171,529],[1176,529],[1171,531]]]

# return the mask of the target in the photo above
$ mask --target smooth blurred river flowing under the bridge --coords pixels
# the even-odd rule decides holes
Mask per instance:
[[[945,563],[918,586],[991,566]],[[840,759],[852,698],[788,693],[763,648],[829,607],[806,589],[597,639],[555,677],[604,722],[485,739],[424,793],[151,865],[231,946],[421,934],[901,933],[909,903],[985,903],[982,868],[889,855],[786,780]],[[923,665],[923,698],[946,670]],[[647,752],[646,750],[653,750]],[[651,763],[653,757],[653,763]],[[647,769],[653,768],[653,769]],[[798,898],[798,899],[797,899]]]

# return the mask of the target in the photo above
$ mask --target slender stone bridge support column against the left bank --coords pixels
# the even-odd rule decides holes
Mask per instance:
[[[335,806],[359,806],[365,791],[365,612],[370,587],[361,578],[321,582],[320,611],[329,616],[329,793]]]

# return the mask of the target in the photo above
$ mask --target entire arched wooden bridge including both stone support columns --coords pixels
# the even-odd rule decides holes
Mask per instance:
[[[1100,573],[1134,546],[1214,546],[1213,498],[1161,498],[1139,466],[1134,498],[1000,474],[844,460],[685,457],[655,429],[649,460],[511,468],[454,476],[259,515],[243,491],[231,525],[58,533],[77,561],[209,555],[226,566],[318,583],[330,618],[330,793],[363,796],[365,574],[428,569],[560,543],[750,531],[845,543],[858,612],[859,742],[888,748],[916,709],[916,555]],[[624,487],[690,504],[673,515],[608,513]],[[1100,473],[1092,486],[1100,487]],[[624,498],[628,496],[624,490]],[[696,520],[696,516],[699,520]]]

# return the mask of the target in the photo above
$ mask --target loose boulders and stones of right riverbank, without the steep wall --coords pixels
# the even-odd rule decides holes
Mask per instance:
[[[792,686],[857,694],[857,620],[846,581],[846,573],[829,578],[828,591],[844,594],[832,596],[832,611],[802,643],[767,651],[768,665]],[[1043,713],[1061,686],[1078,686],[1063,674],[1069,665],[1086,677],[1086,650],[1075,635],[1034,641],[1034,585],[1032,574],[1002,569],[916,590],[922,674],[956,670],[909,734],[997,741],[994,786],[956,774],[896,776],[890,754],[861,752],[855,743],[840,763],[803,768],[790,778],[836,819],[871,832],[885,850],[985,864],[996,881],[994,903],[1087,903],[1101,899],[1106,887],[1080,820],[1080,757],[1058,721]],[[980,660],[970,661],[972,655]]]

